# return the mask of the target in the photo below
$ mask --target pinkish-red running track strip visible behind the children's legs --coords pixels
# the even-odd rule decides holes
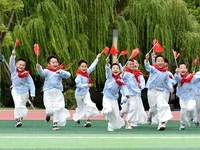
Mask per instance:
[[[70,110],[70,117],[67,120],[72,120],[73,113],[74,110]],[[179,120],[179,111],[172,111],[172,114],[174,117],[171,120]],[[45,116],[45,110],[29,110],[24,120],[44,120]],[[14,120],[14,110],[0,110],[0,120]],[[95,116],[91,120],[105,120],[105,117]]]

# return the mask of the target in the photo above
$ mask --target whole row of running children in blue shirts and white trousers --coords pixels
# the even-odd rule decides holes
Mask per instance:
[[[12,51],[10,57],[10,70],[12,78],[12,97],[15,104],[14,117],[16,127],[22,126],[22,119],[27,115],[26,102],[29,98],[29,90],[32,99],[35,97],[35,86],[29,71],[25,70],[24,59],[18,59],[15,63],[16,52]],[[90,74],[98,64],[101,54],[98,54],[94,62],[88,68],[85,60],[78,62],[76,72],[75,98],[77,108],[73,114],[73,120],[80,124],[80,120],[86,117],[84,126],[90,127],[91,118],[100,115],[96,104],[92,102],[89,89],[93,86]],[[181,63],[173,76],[168,71],[167,59],[162,55],[155,56],[152,65],[149,63],[149,53],[145,55],[144,65],[149,72],[149,78],[145,84],[143,74],[139,70],[136,59],[128,59],[122,67],[120,63],[109,64],[106,58],[105,73],[106,82],[103,89],[103,109],[101,115],[108,120],[108,131],[120,129],[125,124],[126,129],[133,129],[138,124],[158,124],[157,130],[165,130],[168,120],[173,116],[168,104],[173,86],[177,86],[177,96],[180,98],[180,130],[185,129],[193,120],[196,126],[200,122],[200,72],[189,74],[186,64]],[[53,117],[52,130],[59,130],[59,126],[65,126],[66,118],[70,116],[65,108],[62,79],[71,76],[68,71],[59,66],[56,56],[47,57],[47,68],[36,64],[37,73],[44,76],[43,102],[46,109],[45,121],[49,122]],[[149,113],[146,115],[141,99],[141,91],[148,89]],[[194,92],[195,91],[195,92]],[[119,111],[118,98],[121,93],[121,107]],[[124,120],[123,116],[126,115]]]

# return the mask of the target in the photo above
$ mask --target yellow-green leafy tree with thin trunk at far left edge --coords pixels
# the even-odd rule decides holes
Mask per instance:
[[[6,47],[12,44],[12,37],[9,29],[15,12],[22,8],[23,3],[21,0],[0,0],[0,103],[2,101],[2,93],[5,90],[4,86],[6,83],[2,81],[10,81],[10,79],[8,79],[10,72],[5,58],[2,55],[2,47]],[[4,68],[2,68],[2,64],[4,65]]]

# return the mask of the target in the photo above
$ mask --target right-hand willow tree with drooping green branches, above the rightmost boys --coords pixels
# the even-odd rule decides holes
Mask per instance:
[[[184,61],[190,68],[192,60],[199,57],[199,24],[183,0],[130,0],[122,16],[136,26],[143,56],[151,49],[153,39],[158,39],[171,69],[172,49],[180,52],[179,62]]]

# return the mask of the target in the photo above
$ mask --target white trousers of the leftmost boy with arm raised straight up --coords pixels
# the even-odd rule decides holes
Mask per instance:
[[[29,93],[26,92],[24,94],[17,94],[16,91],[12,89],[11,94],[15,104],[14,117],[16,119],[25,117],[28,113],[28,109],[26,108],[26,103],[29,98]]]

